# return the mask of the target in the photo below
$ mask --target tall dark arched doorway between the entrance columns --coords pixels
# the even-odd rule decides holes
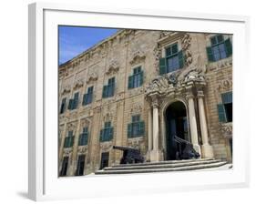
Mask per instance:
[[[185,105],[174,102],[166,110],[167,160],[176,160],[185,148],[174,141],[174,136],[188,140],[188,120]]]

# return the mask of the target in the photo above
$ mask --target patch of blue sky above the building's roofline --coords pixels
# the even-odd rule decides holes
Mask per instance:
[[[58,64],[67,62],[117,31],[111,28],[58,26]]]

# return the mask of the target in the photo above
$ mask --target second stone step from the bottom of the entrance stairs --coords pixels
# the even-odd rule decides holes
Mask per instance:
[[[188,167],[195,166],[200,164],[212,164],[220,162],[220,159],[209,159],[209,160],[189,160],[188,162],[179,162],[179,163],[166,163],[166,164],[151,164],[151,165],[139,165],[139,166],[115,166],[104,168],[104,170],[126,170],[126,169],[146,169],[146,168],[179,168],[179,167]]]

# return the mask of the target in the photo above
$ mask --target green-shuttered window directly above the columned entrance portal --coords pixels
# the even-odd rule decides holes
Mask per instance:
[[[159,74],[164,75],[184,66],[182,50],[179,51],[178,44],[173,44],[165,49],[166,57],[159,59]]]

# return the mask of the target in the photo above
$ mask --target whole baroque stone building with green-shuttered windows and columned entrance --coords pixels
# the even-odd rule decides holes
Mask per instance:
[[[148,161],[232,159],[232,36],[119,30],[59,66],[59,175],[118,164],[116,146]],[[181,147],[182,148],[182,147]]]

